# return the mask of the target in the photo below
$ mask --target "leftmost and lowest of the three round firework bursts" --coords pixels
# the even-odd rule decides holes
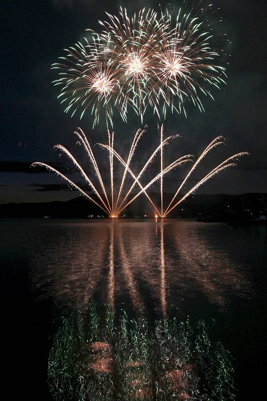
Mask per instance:
[[[112,122],[114,104],[117,105],[124,118],[123,96],[116,70],[111,68],[99,50],[99,41],[86,45],[75,44],[65,49],[66,57],[61,57],[64,64],[53,64],[52,68],[60,69],[59,79],[54,81],[60,85],[59,99],[66,105],[65,112],[72,116],[79,109],[81,118],[86,111],[94,116],[94,125],[99,121],[99,111],[105,108],[106,118]]]

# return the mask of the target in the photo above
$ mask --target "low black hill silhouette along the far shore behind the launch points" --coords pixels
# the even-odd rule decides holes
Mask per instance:
[[[156,205],[158,193],[151,193]],[[173,194],[165,193],[167,204]],[[207,219],[227,221],[233,219],[258,218],[267,214],[266,193],[245,193],[241,195],[196,194],[189,196],[168,217]],[[121,215],[124,217],[154,217],[155,212],[144,196],[140,196]],[[66,202],[47,203],[9,203],[0,205],[0,217],[4,218],[87,218],[106,216],[101,209],[84,197],[77,197]]]

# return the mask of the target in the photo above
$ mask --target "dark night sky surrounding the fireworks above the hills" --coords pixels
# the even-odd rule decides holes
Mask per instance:
[[[104,12],[118,13],[127,6],[129,14],[158,1],[36,0],[2,2],[2,123],[0,138],[0,203],[43,202],[77,196],[58,177],[29,169],[32,161],[55,162],[54,144],[74,149],[73,131],[81,126],[93,143],[106,139],[105,123],[92,129],[90,116],[81,122],[63,112],[51,64],[63,49],[81,40],[87,28],[99,30],[97,21]],[[165,7],[168,2],[160,2]],[[204,98],[205,113],[188,107],[183,115],[169,115],[165,133],[180,133],[178,150],[199,154],[217,135],[224,135],[227,147],[217,150],[214,162],[246,150],[250,156],[239,167],[213,179],[202,193],[267,192],[266,136],[266,0],[214,0],[232,45],[228,59],[227,86],[212,91],[215,100]],[[3,46],[2,46],[3,48]],[[3,53],[3,52],[2,52]],[[144,146],[156,140],[157,120],[147,115],[149,125]],[[136,129],[137,118],[128,124],[114,121],[117,143],[125,149]],[[177,150],[177,148],[175,148]],[[176,156],[176,153],[173,157]],[[139,156],[140,157],[140,154]],[[216,157],[216,159],[214,159]],[[141,162],[141,161],[140,161]],[[175,176],[166,181],[174,189]],[[60,186],[58,186],[60,185]]]

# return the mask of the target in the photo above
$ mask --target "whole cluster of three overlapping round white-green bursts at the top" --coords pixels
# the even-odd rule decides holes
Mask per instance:
[[[115,109],[124,121],[128,107],[143,119],[148,107],[158,118],[167,110],[185,113],[191,99],[204,110],[199,94],[212,97],[211,86],[225,83],[225,68],[217,65],[223,51],[214,49],[212,29],[203,8],[186,13],[157,13],[143,9],[129,17],[126,9],[118,16],[107,14],[99,22],[102,32],[91,30],[91,40],[65,49],[66,56],[53,64],[59,69],[55,85],[59,98],[72,115],[85,112],[99,121],[102,108],[112,125]],[[211,5],[210,5],[211,6]]]

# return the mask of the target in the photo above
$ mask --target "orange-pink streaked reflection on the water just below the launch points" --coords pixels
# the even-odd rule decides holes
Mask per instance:
[[[195,298],[223,310],[251,291],[246,266],[210,240],[227,230],[171,220],[50,222],[33,245],[30,276],[60,308],[97,300],[164,316]]]

